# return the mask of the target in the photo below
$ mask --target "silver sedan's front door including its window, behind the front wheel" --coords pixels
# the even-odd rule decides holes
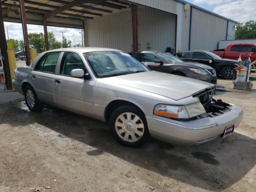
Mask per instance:
[[[59,108],[94,117],[95,80],[70,75],[73,69],[86,67],[79,54],[64,52],[58,74],[54,77],[54,99]]]

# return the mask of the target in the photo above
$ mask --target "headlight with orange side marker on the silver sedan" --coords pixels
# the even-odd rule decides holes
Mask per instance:
[[[188,119],[206,113],[200,102],[185,106],[158,104],[154,108],[154,114],[163,117]]]

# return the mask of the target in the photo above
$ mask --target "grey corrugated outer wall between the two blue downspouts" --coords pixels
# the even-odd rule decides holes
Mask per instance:
[[[227,20],[192,8],[191,50],[214,50],[226,39]]]

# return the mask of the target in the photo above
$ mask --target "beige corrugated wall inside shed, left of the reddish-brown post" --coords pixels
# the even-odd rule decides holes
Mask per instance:
[[[86,20],[86,46],[132,51],[131,11]]]

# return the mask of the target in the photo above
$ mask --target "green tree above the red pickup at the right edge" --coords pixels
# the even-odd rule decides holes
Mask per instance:
[[[255,39],[256,38],[256,22],[250,20],[243,23],[238,23],[236,27],[235,39]]]

